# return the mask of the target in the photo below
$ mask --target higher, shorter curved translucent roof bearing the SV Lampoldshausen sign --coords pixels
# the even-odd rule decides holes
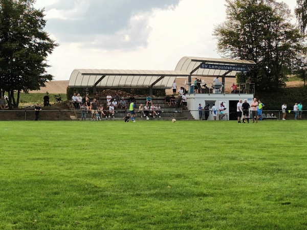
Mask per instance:
[[[183,57],[178,62],[175,68],[175,71],[187,71],[188,73],[191,73],[193,76],[194,75],[217,76],[217,75],[224,75],[225,73],[228,72],[227,70],[209,70],[206,68],[199,68],[199,65],[201,63],[220,64],[220,65],[247,65],[247,66],[256,65],[254,61],[250,61],[250,60],[233,60],[233,59],[226,59],[226,58]],[[225,76],[234,77],[236,73],[237,71],[231,71]]]

